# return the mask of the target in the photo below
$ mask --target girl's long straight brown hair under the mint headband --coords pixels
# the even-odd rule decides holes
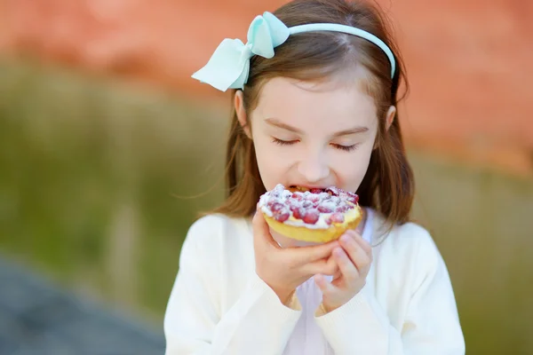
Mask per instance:
[[[290,36],[275,49],[274,58],[254,56],[251,59],[243,104],[250,117],[251,110],[258,103],[262,85],[276,76],[318,81],[361,65],[370,74],[366,89],[375,99],[379,128],[369,169],[357,191],[359,201],[362,206],[378,210],[386,217],[390,227],[409,221],[414,180],[397,114],[391,127],[386,130],[386,112],[389,106],[397,106],[402,99],[398,98],[398,88],[403,82],[407,89],[407,83],[402,59],[378,6],[363,1],[296,0],[273,13],[287,27],[329,22],[362,28],[378,36],[394,52],[396,71],[391,78],[386,54],[375,44],[358,36],[338,32],[307,32]],[[266,190],[259,176],[253,142],[238,122],[235,107],[227,141],[226,178],[227,199],[213,212],[230,217],[251,216],[259,196]]]

